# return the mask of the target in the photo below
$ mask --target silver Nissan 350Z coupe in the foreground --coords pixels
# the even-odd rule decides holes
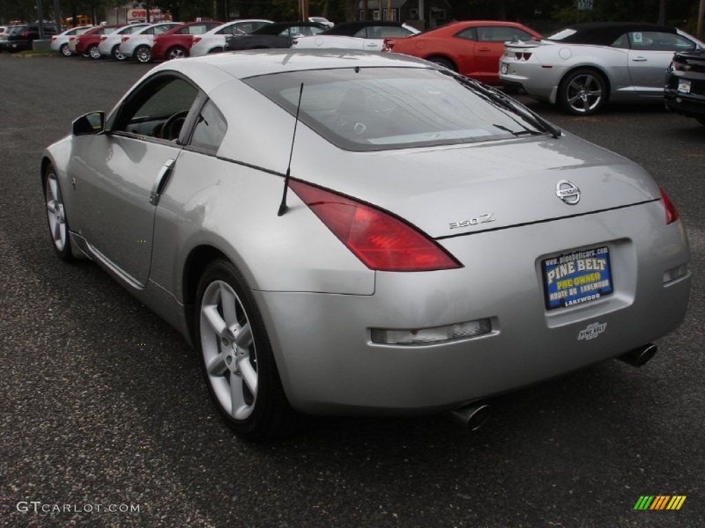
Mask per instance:
[[[238,434],[457,410],[685,316],[685,228],[638,165],[416,58],[157,66],[39,174],[51,241],[183,333]]]

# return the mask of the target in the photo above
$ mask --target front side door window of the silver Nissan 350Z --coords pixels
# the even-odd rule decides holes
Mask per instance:
[[[123,103],[111,130],[142,137],[177,139],[198,90],[181,77],[159,75]]]

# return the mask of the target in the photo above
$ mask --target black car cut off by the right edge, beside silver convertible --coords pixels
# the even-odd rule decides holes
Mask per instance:
[[[705,125],[705,50],[679,51],[666,70],[668,110]]]

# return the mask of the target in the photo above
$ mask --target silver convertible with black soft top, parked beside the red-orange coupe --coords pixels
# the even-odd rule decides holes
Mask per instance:
[[[694,49],[705,44],[675,27],[577,24],[539,42],[505,44],[499,79],[503,87],[574,115],[595,113],[609,102],[663,104],[673,52]]]

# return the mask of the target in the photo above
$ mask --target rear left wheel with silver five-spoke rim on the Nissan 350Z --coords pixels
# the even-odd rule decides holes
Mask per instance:
[[[265,440],[296,420],[252,291],[227,260],[208,265],[197,289],[195,343],[211,396],[235,434]]]

